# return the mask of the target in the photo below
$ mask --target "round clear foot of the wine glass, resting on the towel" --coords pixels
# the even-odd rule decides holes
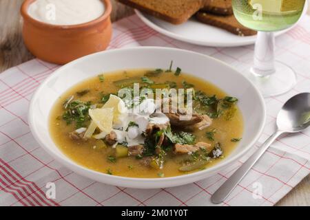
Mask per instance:
[[[276,71],[269,76],[261,76],[254,69],[247,76],[264,97],[285,94],[296,85],[296,74],[291,67],[278,61],[275,67]]]

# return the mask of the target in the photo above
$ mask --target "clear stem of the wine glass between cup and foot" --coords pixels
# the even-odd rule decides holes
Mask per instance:
[[[273,32],[258,32],[254,52],[254,67],[251,72],[260,77],[267,77],[276,72],[274,63]]]

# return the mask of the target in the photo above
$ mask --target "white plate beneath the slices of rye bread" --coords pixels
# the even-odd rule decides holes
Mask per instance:
[[[307,12],[307,5],[308,3],[306,1],[302,16]],[[138,17],[149,26],[149,28],[169,36],[172,39],[177,39],[187,43],[210,47],[236,47],[241,45],[251,45],[256,41],[256,36],[237,36],[236,34],[231,34],[226,30],[200,23],[194,18],[189,19],[189,21],[181,25],[173,25],[138,10],[135,10],[135,12]],[[293,27],[294,26],[291,28]],[[279,36],[284,34],[291,28],[282,30],[281,32],[276,32],[275,35]]]

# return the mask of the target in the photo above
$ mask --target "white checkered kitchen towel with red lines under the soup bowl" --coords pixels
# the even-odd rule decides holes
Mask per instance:
[[[241,72],[251,66],[254,46],[214,48],[169,39],[148,28],[135,15],[114,23],[110,50],[121,47],[165,46],[207,54]],[[262,143],[275,130],[276,115],[291,96],[310,91],[310,17],[276,41],[277,58],[293,67],[298,85],[288,94],[267,98],[267,124]],[[0,206],[208,206],[212,193],[253,153],[217,175],[187,186],[138,190],[92,181],[50,157],[30,133],[27,115],[32,94],[59,66],[34,59],[0,74]],[[222,206],[273,206],[309,174],[310,129],[287,135],[269,148]],[[56,186],[47,199],[46,184]],[[262,197],[256,197],[262,186]]]

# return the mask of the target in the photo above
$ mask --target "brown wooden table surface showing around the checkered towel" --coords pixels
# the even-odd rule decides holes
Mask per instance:
[[[23,0],[0,0],[0,73],[34,58],[23,45],[19,8]],[[112,0],[112,21],[130,14],[132,9]],[[309,11],[310,14],[310,11]],[[276,206],[310,206],[310,177],[303,179],[296,188],[281,199]]]

